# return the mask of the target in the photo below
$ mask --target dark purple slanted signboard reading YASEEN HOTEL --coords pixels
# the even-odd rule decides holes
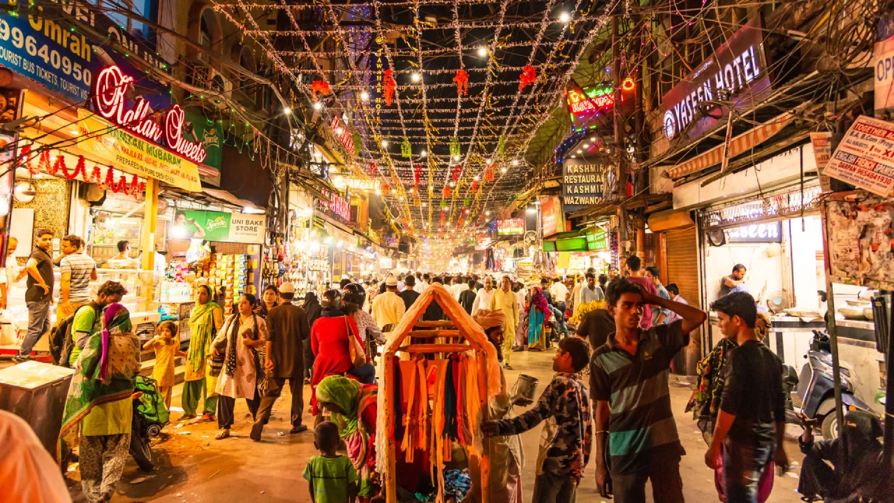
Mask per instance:
[[[763,53],[763,21],[756,16],[730,40],[693,69],[662,97],[664,136],[669,140],[687,133],[690,140],[710,131],[727,115],[728,107],[698,112],[704,101],[734,102],[748,107],[771,90],[770,72]]]

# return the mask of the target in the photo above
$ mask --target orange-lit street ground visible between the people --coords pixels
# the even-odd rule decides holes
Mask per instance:
[[[552,353],[514,353],[512,364],[515,371],[507,371],[507,380],[514,383],[519,373],[527,373],[540,379],[542,385],[552,376]],[[305,388],[306,393],[308,388]],[[181,387],[175,388],[174,406],[180,405]],[[691,417],[683,413],[689,396],[689,388],[671,387],[680,436],[688,455],[683,458],[681,474],[687,501],[716,501],[712,473],[704,466],[704,441],[696,433]],[[265,429],[264,441],[257,444],[248,439],[249,416],[244,401],[236,405],[237,421],[231,439],[215,440],[216,423],[199,422],[177,428],[172,423],[164,428],[167,438],[154,448],[158,467],[153,473],[142,473],[129,462],[122,482],[118,486],[118,496],[114,501],[310,501],[307,482],[301,477],[305,460],[316,455],[313,434],[308,431],[298,435],[289,434],[288,396],[277,402],[274,417]],[[172,413],[174,419],[180,413]],[[305,415],[305,421],[312,418]],[[800,453],[794,434],[787,445],[789,458],[799,462]],[[540,428],[522,435],[527,456],[524,467],[525,482],[533,481]],[[799,465],[794,466],[797,474]],[[76,476],[76,473],[70,473]],[[145,478],[145,481],[139,482]],[[139,483],[133,483],[139,482]],[[80,498],[80,484],[70,482],[76,501]],[[773,503],[795,503],[799,501],[795,489],[797,479],[791,476],[777,478]],[[525,501],[531,500],[533,483],[525,485]],[[586,478],[578,490],[579,501],[602,501],[595,493],[592,466],[587,467]],[[651,501],[651,499],[650,499]]]

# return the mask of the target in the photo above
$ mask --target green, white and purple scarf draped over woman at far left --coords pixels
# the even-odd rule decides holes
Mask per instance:
[[[56,456],[60,461],[64,443],[66,440],[70,442],[74,437],[74,427],[93,407],[127,398],[133,394],[136,386],[139,361],[136,365],[133,362],[118,364],[119,362],[112,362],[113,358],[110,358],[110,339],[113,336],[122,339],[116,343],[134,345],[133,354],[139,358],[139,339],[131,334],[130,312],[122,304],[114,303],[105,308],[102,320],[103,328],[89,337],[75,362],[72,384],[65,399],[62,428],[56,442]],[[115,369],[124,369],[128,374],[119,374]]]

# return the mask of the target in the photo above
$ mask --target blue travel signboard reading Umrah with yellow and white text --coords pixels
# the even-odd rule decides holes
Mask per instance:
[[[127,47],[130,53],[157,69],[168,71],[168,65],[156,55],[155,47],[146,43],[146,38],[132,36],[86,2],[43,3],[36,10],[32,6],[28,11],[15,11],[13,7],[22,1],[0,0],[9,7],[0,9],[4,13],[0,16],[0,66],[46,86],[71,104],[88,101],[93,81],[110,61],[120,64],[126,72],[146,76],[129,63],[129,54],[109,49],[108,40]],[[18,15],[10,15],[11,12]],[[66,19],[107,34],[108,40],[103,38],[95,45],[84,32],[75,30],[73,23],[63,21]],[[168,87],[148,76],[141,78],[136,88],[137,94],[146,96],[154,109],[164,109],[171,103]]]

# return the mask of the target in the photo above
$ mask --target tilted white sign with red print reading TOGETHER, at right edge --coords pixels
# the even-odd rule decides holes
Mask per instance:
[[[857,117],[822,175],[880,196],[894,186],[894,124],[866,115]]]

